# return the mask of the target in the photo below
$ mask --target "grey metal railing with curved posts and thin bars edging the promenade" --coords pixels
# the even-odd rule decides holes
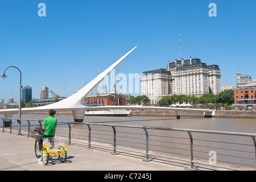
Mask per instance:
[[[13,130],[13,121],[15,120],[18,124],[21,125],[21,122],[27,122],[28,125],[27,125],[27,135],[28,137],[30,137],[30,129],[31,129],[31,122],[36,122],[36,123],[39,123],[39,126],[40,126],[40,130],[42,128],[42,120],[38,120],[38,119],[15,119],[15,118],[10,118],[10,119],[6,119],[6,118],[0,118],[0,121],[3,121],[3,125],[2,125],[2,131],[5,131],[5,121],[10,121],[10,133],[12,133],[14,130]],[[229,135],[231,136],[232,138],[234,137],[237,137],[237,136],[241,136],[241,137],[246,137],[246,138],[251,138],[251,143],[252,144],[242,144],[242,143],[232,143],[234,142],[233,139],[232,142],[228,142],[228,143],[231,143],[231,144],[241,144],[241,145],[245,145],[245,147],[247,146],[251,146],[251,147],[254,147],[254,151],[241,151],[241,150],[234,150],[234,149],[230,149],[230,151],[234,151],[234,152],[249,152],[251,154],[254,154],[254,157],[253,158],[249,158],[250,160],[254,160],[254,165],[252,166],[253,168],[256,169],[256,134],[255,133],[237,133],[237,132],[229,132],[229,131],[213,131],[213,130],[193,130],[193,129],[176,129],[176,128],[170,128],[170,127],[151,127],[151,126],[131,126],[131,125],[112,125],[112,124],[106,124],[106,123],[77,123],[77,122],[64,122],[64,121],[58,121],[58,125],[59,123],[61,123],[61,125],[67,125],[68,126],[68,129],[65,129],[64,133],[67,133],[68,132],[68,144],[71,144],[72,142],[76,142],[76,143],[86,143],[88,144],[88,149],[91,149],[92,148],[92,145],[93,146],[101,146],[101,147],[107,147],[107,148],[112,148],[113,152],[112,154],[119,154],[117,152],[117,150],[123,150],[123,151],[130,151],[130,152],[137,152],[139,154],[143,154],[145,155],[145,158],[143,159],[144,161],[151,161],[152,159],[150,159],[150,156],[158,156],[160,158],[168,158],[168,159],[174,159],[174,160],[180,160],[180,161],[183,161],[183,162],[188,162],[189,163],[189,166],[191,170],[193,169],[196,169],[194,164],[203,164],[205,166],[212,166],[212,167],[217,167],[217,168],[226,168],[226,169],[232,169],[232,170],[241,170],[240,167],[237,167],[237,168],[234,168],[234,167],[230,167],[230,166],[226,166],[226,165],[217,165],[217,164],[211,164],[211,163],[207,163],[207,162],[202,162],[200,160],[195,160],[194,157],[195,157],[195,150],[194,150],[194,147],[201,147],[200,144],[194,144],[195,141],[198,141],[198,140],[204,140],[204,138],[199,138],[199,139],[194,139],[193,138],[193,135],[195,133],[197,134],[214,134],[214,135]],[[72,126],[76,126],[76,125],[84,125],[84,126],[87,126],[88,127],[88,137],[87,137],[87,140],[88,142],[83,142],[83,141],[80,141],[80,140],[72,140],[72,129],[73,130],[76,130],[74,129]],[[105,144],[102,144],[102,143],[99,143],[99,142],[94,142],[92,143],[92,126],[104,126],[104,127],[110,127],[112,128],[113,130],[113,134],[111,135],[104,135],[104,138],[106,138],[106,136],[112,138],[113,139],[110,139],[112,140],[112,142],[110,142],[111,145],[105,145]],[[127,129],[139,129],[139,130],[142,130],[144,131],[144,134],[138,134],[138,133],[134,133],[134,134],[137,134],[137,135],[140,135],[139,138],[137,139],[142,139],[144,138],[144,144],[143,143],[139,143],[138,145],[144,145],[144,147],[142,148],[142,150],[135,150],[133,147],[130,148],[121,148],[121,147],[117,147],[117,138],[119,136],[117,136],[117,127],[121,127],[121,128],[125,128],[126,130]],[[21,128],[21,127],[20,127]],[[68,130],[68,131],[67,131]],[[97,129],[95,129],[97,130]],[[189,143],[187,143],[186,147],[188,148],[189,150],[189,158],[180,158],[180,157],[176,157],[176,156],[173,156],[172,155],[172,152],[168,152],[169,154],[159,154],[159,153],[156,153],[156,152],[150,152],[150,136],[155,136],[155,137],[166,137],[166,136],[160,136],[159,134],[157,135],[150,135],[148,131],[150,130],[159,130],[159,131],[178,131],[178,132],[182,132],[182,133],[187,133],[187,136],[188,136],[188,140],[189,140]],[[107,131],[107,130],[99,130],[99,133],[102,133],[103,131]],[[110,132],[108,130],[108,132]],[[22,134],[22,131],[16,131],[16,133],[18,135]],[[24,133],[24,132],[23,132]],[[80,133],[80,131],[78,132]],[[84,131],[82,131],[81,133],[84,133]],[[125,131],[122,131],[121,133],[126,133]],[[193,135],[192,135],[193,133]],[[56,134],[57,135],[57,134]],[[141,137],[143,136],[144,137]],[[112,137],[111,137],[112,136]],[[97,137],[96,137],[97,138]],[[169,138],[172,138],[172,137],[169,137]],[[174,137],[175,139],[178,138],[178,137]],[[75,138],[74,138],[75,139]],[[183,138],[184,139],[184,138]],[[85,139],[83,139],[85,140]],[[134,140],[134,138],[133,138]],[[207,143],[209,142],[217,142],[217,141],[214,141],[214,140],[205,140],[207,141]],[[159,143],[159,142],[162,142],[162,140],[156,140],[155,143]],[[227,142],[223,142],[224,146],[226,145]],[[250,142],[249,142],[250,143]],[[180,144],[179,142],[178,143],[175,143],[175,148],[176,146]],[[164,147],[166,144],[164,144]],[[123,144],[122,144],[123,146]],[[152,146],[152,144],[151,144]],[[171,147],[170,147],[171,148]],[[218,148],[218,147],[217,147]],[[243,146],[242,146],[243,148]],[[221,148],[221,149],[224,149],[224,148]],[[181,150],[185,150],[185,149],[181,149]],[[196,152],[201,152],[200,150],[199,151],[196,151]],[[198,157],[198,156],[197,156]],[[226,156],[225,156],[226,157]],[[244,159],[244,160],[247,160],[248,158],[247,157],[240,157],[240,156],[234,156],[234,158],[241,158],[241,159]]]

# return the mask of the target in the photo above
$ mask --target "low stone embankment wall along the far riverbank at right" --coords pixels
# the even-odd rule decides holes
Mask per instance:
[[[156,116],[156,117],[176,117],[175,111],[163,110],[134,110],[131,111],[133,116]],[[181,117],[204,117],[202,113],[193,111],[180,111]],[[247,118],[255,119],[256,111],[254,110],[216,110],[216,118]]]

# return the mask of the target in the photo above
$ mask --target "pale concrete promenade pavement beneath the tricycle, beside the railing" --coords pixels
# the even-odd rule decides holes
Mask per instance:
[[[67,161],[59,163],[57,157],[50,158],[44,166],[35,157],[35,139],[0,132],[0,171],[183,171],[176,167],[141,159],[111,155],[101,150],[86,150],[79,146],[67,147]]]

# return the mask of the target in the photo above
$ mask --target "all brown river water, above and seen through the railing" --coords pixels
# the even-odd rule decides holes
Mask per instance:
[[[13,115],[13,118],[15,117],[16,115]],[[23,119],[44,119],[46,117],[48,117],[47,114],[22,115]],[[56,114],[55,117],[58,121],[73,122],[73,115],[71,114]],[[176,117],[147,116],[85,117],[84,122],[256,133],[256,119],[241,118],[182,118],[182,116],[181,119],[176,119]],[[60,126],[58,127],[60,129]],[[76,128],[76,130],[73,128]],[[150,135],[150,152],[171,153],[175,157],[189,158],[190,141],[186,132],[164,130],[150,130],[148,132]],[[104,135],[102,136],[102,134]],[[217,162],[219,163],[255,167],[255,151],[252,138],[216,134],[192,134],[194,139],[194,160],[207,161],[210,158],[209,152],[214,151],[217,154]],[[75,135],[75,138],[86,139],[88,127],[86,125],[72,126],[72,138]],[[113,143],[112,128],[101,129],[98,126],[92,126],[92,141]],[[145,134],[142,129],[117,128],[117,147],[127,146],[143,150],[144,143]]]

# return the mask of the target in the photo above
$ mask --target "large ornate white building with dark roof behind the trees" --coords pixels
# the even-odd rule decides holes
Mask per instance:
[[[185,94],[200,97],[221,92],[221,72],[218,65],[206,65],[200,59],[168,61],[166,69],[143,72],[141,94],[157,104],[163,96]]]

